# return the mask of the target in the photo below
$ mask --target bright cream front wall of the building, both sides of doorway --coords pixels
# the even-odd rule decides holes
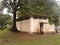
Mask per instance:
[[[55,25],[49,24],[48,19],[31,19],[33,21],[33,30],[32,32],[40,33],[40,23],[43,23],[43,32],[49,33],[49,32],[56,32],[55,31]]]

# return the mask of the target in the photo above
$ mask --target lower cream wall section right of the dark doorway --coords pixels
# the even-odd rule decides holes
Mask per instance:
[[[49,23],[44,24],[43,32],[44,33],[56,32],[55,31],[55,25],[54,24],[49,24]]]

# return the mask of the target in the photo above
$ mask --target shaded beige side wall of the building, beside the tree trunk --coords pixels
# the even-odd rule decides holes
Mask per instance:
[[[30,19],[17,22],[16,25],[17,25],[18,31],[30,33],[31,32],[30,22],[31,22]]]

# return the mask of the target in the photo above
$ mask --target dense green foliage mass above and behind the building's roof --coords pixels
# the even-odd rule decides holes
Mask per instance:
[[[18,16],[47,15],[54,16],[57,4],[55,0],[26,0],[26,4],[20,9]]]

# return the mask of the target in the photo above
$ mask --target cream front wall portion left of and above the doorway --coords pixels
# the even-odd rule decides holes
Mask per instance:
[[[40,23],[42,23],[42,22],[49,23],[48,19],[34,19],[33,18],[33,32],[40,33]]]

